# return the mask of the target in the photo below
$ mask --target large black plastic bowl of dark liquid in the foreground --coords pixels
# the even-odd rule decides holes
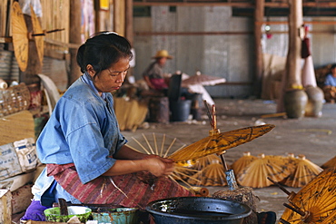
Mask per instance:
[[[252,212],[249,206],[232,200],[208,197],[177,197],[150,202],[146,210],[155,224],[223,223],[242,224]]]

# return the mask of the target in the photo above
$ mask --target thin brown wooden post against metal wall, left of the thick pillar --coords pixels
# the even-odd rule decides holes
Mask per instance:
[[[258,98],[262,94],[262,71],[263,71],[263,58],[262,58],[262,22],[264,15],[264,0],[255,1],[254,9],[254,95]]]

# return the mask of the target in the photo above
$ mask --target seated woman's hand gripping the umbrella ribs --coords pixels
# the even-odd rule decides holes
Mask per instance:
[[[143,161],[146,162],[147,170],[156,177],[173,173],[174,165],[171,160],[164,160],[160,157],[149,157]]]

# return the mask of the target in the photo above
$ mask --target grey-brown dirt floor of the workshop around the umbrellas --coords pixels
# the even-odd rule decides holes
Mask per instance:
[[[262,123],[274,124],[275,128],[262,137],[237,146],[225,153],[225,160],[230,165],[233,161],[242,157],[244,151],[251,151],[257,156],[259,153],[265,155],[294,155],[304,154],[306,158],[321,166],[335,156],[335,133],[336,133],[336,104],[323,104],[321,118],[303,117],[301,119],[286,119],[284,117],[262,118],[264,114],[276,112],[276,103],[262,100],[231,100],[214,99],[217,111],[217,127],[221,132],[259,125]],[[144,128],[145,127],[145,128]],[[160,138],[165,136],[166,142],[174,142],[176,150],[183,144],[189,145],[208,136],[211,126],[204,112],[203,121],[145,123],[143,128],[136,131],[123,131],[124,136],[130,141],[130,145],[140,149],[147,147],[147,141],[153,147],[153,151],[160,152]],[[156,143],[153,141],[156,139]],[[175,139],[175,141],[174,141]],[[140,144],[143,145],[140,146]],[[153,145],[159,145],[155,149]],[[164,148],[165,149],[165,148]],[[170,153],[170,152],[169,152]],[[218,190],[228,190],[227,187],[206,187],[210,193]],[[289,191],[297,192],[299,188],[287,188]],[[261,189],[253,189],[256,196],[258,211],[274,211],[277,219],[280,219],[287,202],[287,195],[278,187],[271,186]]]

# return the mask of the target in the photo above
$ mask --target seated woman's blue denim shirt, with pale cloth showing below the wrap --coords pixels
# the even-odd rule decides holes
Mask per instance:
[[[83,183],[109,170],[115,162],[111,156],[127,142],[119,130],[113,105],[112,94],[100,96],[84,73],[57,102],[36,141],[40,161],[55,164],[74,162]],[[46,177],[45,170],[41,173],[35,182],[35,187],[41,190],[35,194],[35,200],[41,198],[53,180],[53,177]],[[57,184],[56,193],[65,200],[71,198],[62,190]]]

